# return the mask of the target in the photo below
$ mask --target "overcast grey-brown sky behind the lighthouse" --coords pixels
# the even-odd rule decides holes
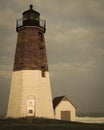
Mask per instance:
[[[52,95],[77,115],[104,116],[104,0],[0,0],[0,114],[5,114],[17,41],[16,19],[33,4],[47,22]]]

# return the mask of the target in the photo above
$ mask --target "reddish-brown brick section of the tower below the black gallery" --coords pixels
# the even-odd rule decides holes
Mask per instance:
[[[42,40],[39,33],[42,33]],[[41,70],[42,67],[48,71],[44,30],[35,26],[20,27],[13,71]]]

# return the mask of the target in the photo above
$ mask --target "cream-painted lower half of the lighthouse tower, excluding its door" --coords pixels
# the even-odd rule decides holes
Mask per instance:
[[[7,117],[27,116],[27,100],[34,99],[35,116],[54,118],[49,73],[40,70],[13,72]]]

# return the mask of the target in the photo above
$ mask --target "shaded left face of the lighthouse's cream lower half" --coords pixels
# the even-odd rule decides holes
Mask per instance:
[[[9,94],[7,117],[19,117],[21,113],[22,72],[14,72]]]

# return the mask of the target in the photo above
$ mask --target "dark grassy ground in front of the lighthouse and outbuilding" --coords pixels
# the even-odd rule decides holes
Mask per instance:
[[[42,118],[0,119],[0,130],[104,130],[104,124]]]

